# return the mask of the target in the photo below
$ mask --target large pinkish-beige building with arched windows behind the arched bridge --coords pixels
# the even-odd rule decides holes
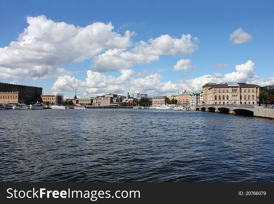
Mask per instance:
[[[255,84],[216,84],[208,82],[203,86],[200,105],[205,104],[257,104],[260,86]]]

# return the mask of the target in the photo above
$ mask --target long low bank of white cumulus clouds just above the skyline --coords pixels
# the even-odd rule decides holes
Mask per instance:
[[[238,83],[246,82],[250,84],[257,84],[260,86],[274,84],[274,77],[263,79],[257,76],[254,71],[255,64],[248,60],[244,64],[236,65],[235,71],[231,73],[221,74],[214,73],[214,75],[202,75],[194,79],[167,81],[162,82],[163,76],[158,73],[150,73],[148,76],[138,76],[133,70],[120,70],[120,76],[115,77],[105,75],[92,70],[87,71],[87,78],[85,81],[77,80],[71,76],[59,77],[52,91],[73,91],[77,84],[78,89],[84,91],[83,95],[102,95],[105,93],[118,93],[125,95],[125,93],[147,93],[149,97],[160,96],[161,93],[166,92],[167,95],[176,95],[180,90],[202,91],[202,86],[209,81],[215,83]]]

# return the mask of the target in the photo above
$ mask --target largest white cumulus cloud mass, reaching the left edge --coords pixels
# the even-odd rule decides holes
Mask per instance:
[[[41,15],[27,17],[28,27],[17,41],[0,48],[1,79],[23,80],[70,74],[60,66],[82,62],[107,49],[124,49],[132,45],[134,32],[122,36],[113,32],[111,22],[75,26],[54,22]]]

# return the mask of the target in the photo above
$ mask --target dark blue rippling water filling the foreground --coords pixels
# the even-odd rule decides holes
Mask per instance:
[[[1,110],[0,181],[274,182],[274,121],[155,109]]]

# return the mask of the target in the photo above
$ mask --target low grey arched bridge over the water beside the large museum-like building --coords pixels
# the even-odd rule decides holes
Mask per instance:
[[[197,111],[210,111],[220,113],[231,113],[231,114],[245,114],[253,115],[254,107],[257,105],[249,104],[211,104],[196,106]]]

